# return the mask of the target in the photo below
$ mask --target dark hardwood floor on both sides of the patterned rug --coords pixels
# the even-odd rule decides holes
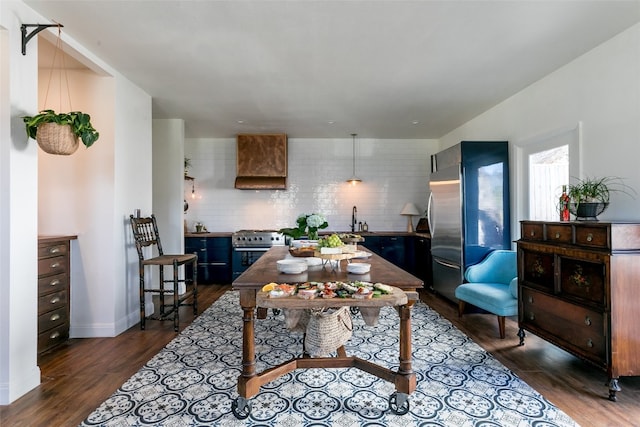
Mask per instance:
[[[200,311],[230,286],[199,286]],[[531,335],[518,346],[517,323],[507,320],[507,338],[497,338],[495,316],[469,314],[431,293],[423,301],[491,352],[583,427],[640,426],[640,377],[623,377],[618,402],[607,400],[604,372]],[[180,329],[192,320],[182,309]],[[40,359],[42,383],[11,405],[0,407],[0,426],[77,426],[127,378],[175,337],[171,322],[147,322],[115,338],[72,339]]]

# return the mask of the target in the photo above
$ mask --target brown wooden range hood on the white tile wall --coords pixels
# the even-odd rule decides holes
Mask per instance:
[[[241,190],[287,188],[287,135],[239,134],[236,183]]]

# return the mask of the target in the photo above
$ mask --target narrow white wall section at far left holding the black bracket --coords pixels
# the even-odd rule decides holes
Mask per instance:
[[[40,383],[37,366],[38,148],[21,116],[37,109],[36,44],[21,53],[20,25],[40,19],[19,2],[0,2],[0,404]]]

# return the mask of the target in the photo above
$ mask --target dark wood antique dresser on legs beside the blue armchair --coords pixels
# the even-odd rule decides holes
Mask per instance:
[[[594,364],[616,400],[640,375],[640,223],[522,221],[520,343],[528,330]]]

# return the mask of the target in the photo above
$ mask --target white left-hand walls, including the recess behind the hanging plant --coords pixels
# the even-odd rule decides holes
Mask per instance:
[[[22,2],[0,2],[0,404],[40,383],[38,228],[79,237],[72,246],[72,336],[114,336],[138,322],[128,215],[152,207],[151,98],[64,33],[65,52],[68,47],[95,73],[73,73],[74,109],[91,113],[101,137],[71,158],[41,158],[39,189],[39,149],[26,137],[21,116],[41,108],[38,38],[53,33],[34,37],[23,56],[20,25],[36,22],[48,20]],[[182,159],[177,162],[181,168]],[[41,221],[40,191],[46,191],[42,213],[51,215]]]

